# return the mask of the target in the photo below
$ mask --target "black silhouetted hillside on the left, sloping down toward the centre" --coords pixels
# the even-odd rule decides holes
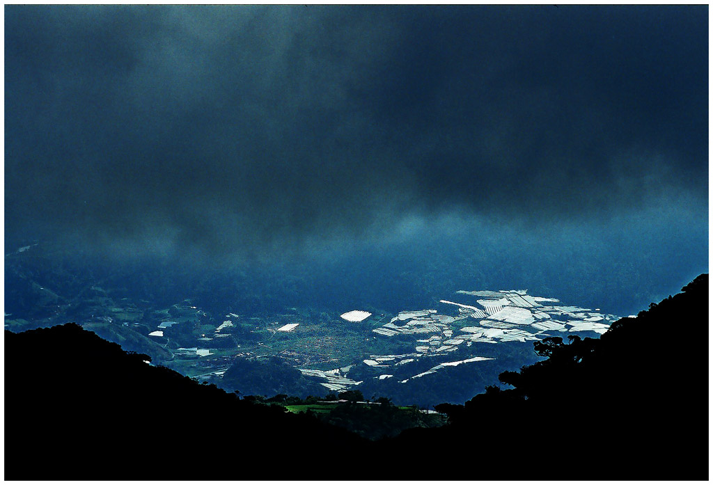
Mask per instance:
[[[5,349],[6,479],[326,479],[363,447],[78,325],[6,332]]]

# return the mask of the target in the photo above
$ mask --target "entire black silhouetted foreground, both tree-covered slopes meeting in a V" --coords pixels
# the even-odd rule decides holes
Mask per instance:
[[[5,333],[6,479],[708,477],[708,276],[600,339],[535,344],[451,424],[369,443],[78,325]],[[385,465],[385,466],[384,466]]]

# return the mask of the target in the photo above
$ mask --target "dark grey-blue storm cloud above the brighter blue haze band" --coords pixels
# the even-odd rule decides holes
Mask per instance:
[[[706,204],[706,6],[6,6],[5,46],[9,234],[225,252]]]

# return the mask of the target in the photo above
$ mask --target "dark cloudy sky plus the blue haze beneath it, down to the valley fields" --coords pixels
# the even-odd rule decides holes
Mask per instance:
[[[4,12],[6,254],[395,307],[708,271],[707,6]]]

